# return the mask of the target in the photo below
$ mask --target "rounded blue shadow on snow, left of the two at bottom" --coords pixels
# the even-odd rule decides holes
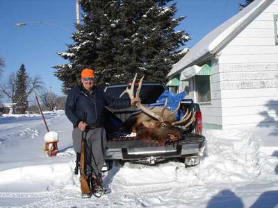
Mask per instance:
[[[224,189],[209,200],[206,208],[243,208],[243,200],[229,189]]]

